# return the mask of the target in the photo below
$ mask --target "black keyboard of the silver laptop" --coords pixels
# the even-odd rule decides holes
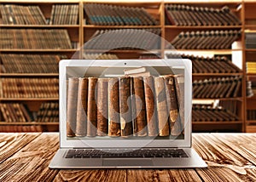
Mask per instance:
[[[142,149],[128,150],[68,150],[65,158],[153,158],[153,157],[189,157],[183,149]]]

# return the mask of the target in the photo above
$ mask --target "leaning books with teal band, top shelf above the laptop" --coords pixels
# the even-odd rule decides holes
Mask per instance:
[[[159,22],[139,7],[125,7],[112,4],[84,4],[88,24],[96,26],[155,26]]]

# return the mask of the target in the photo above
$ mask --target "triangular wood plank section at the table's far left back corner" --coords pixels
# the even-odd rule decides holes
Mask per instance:
[[[0,163],[13,156],[40,134],[0,134]]]

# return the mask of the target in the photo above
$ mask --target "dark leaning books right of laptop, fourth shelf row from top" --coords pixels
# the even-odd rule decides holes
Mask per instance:
[[[215,77],[193,82],[194,98],[236,98],[241,96],[241,77]]]

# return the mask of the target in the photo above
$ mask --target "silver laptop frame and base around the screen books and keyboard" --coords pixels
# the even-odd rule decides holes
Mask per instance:
[[[170,137],[128,138],[96,136],[67,137],[68,77],[119,77],[124,70],[143,67],[154,76],[182,74],[184,82],[183,133]],[[60,82],[60,149],[49,168],[206,168],[207,164],[191,148],[192,64],[190,60],[61,60]],[[69,157],[73,151],[157,151],[183,149],[188,157]]]

